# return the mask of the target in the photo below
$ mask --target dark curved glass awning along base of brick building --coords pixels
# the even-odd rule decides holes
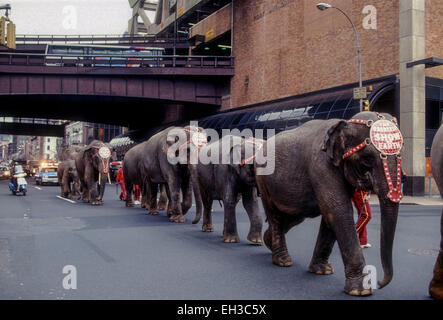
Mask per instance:
[[[395,81],[396,77],[391,76],[364,83],[372,89],[368,100],[375,102],[378,93],[392,87]],[[350,119],[360,112],[359,100],[353,98],[356,86],[341,86],[219,113],[200,119],[199,125],[216,130],[275,129],[278,133],[313,119]]]

